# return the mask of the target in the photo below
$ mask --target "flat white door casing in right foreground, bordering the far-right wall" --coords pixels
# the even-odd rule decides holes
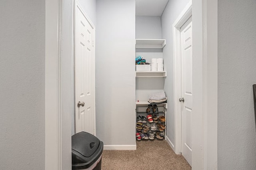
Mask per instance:
[[[218,169],[218,0],[202,1],[203,169]],[[210,22],[208,22],[210,21]]]

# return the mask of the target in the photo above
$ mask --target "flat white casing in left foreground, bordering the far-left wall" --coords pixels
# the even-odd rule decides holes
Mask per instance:
[[[61,170],[61,0],[45,5],[45,170]]]

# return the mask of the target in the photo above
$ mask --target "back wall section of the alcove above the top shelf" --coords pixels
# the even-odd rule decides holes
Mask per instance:
[[[162,26],[160,16],[136,16],[137,39],[161,39]]]

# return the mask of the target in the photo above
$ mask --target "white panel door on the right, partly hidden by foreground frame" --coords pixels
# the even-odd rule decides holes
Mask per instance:
[[[181,27],[182,155],[192,164],[192,17]]]

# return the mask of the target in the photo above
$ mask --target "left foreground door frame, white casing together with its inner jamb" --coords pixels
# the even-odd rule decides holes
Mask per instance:
[[[72,0],[46,0],[45,3],[45,170],[70,170],[72,164],[70,2]]]

